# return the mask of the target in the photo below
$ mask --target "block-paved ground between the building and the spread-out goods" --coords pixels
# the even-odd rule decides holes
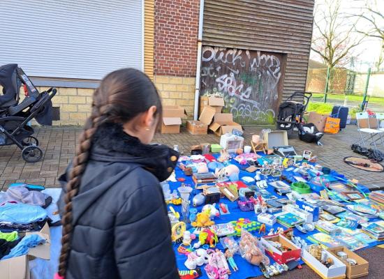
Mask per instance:
[[[260,133],[260,130],[260,127],[245,127],[246,144],[249,144],[251,135]],[[59,187],[57,177],[73,158],[80,131],[80,128],[36,128],[35,135],[45,154],[41,162],[34,164],[24,163],[16,146],[1,146],[0,189],[15,182],[38,183],[48,188]],[[325,135],[324,146],[307,144],[298,139],[290,140],[289,144],[295,146],[297,153],[312,150],[318,156],[320,164],[336,169],[350,179],[358,179],[370,188],[377,189],[374,185],[384,186],[384,173],[364,172],[343,162],[344,157],[355,155],[350,150],[350,144],[357,137],[356,126],[348,126],[337,135]],[[178,135],[156,135],[154,142],[169,146],[177,144],[181,152],[189,153],[191,145],[202,142],[219,143],[219,137],[213,134],[190,135],[182,128],[182,133]]]

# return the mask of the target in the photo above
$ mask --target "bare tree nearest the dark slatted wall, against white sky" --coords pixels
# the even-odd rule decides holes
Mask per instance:
[[[323,6],[316,7],[311,50],[331,70],[335,66],[346,66],[351,51],[362,42],[363,36],[356,36],[355,32],[357,20],[351,22],[346,17],[340,0],[325,0]]]

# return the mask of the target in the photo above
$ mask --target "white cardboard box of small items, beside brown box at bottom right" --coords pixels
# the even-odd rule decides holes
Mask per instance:
[[[316,257],[313,257],[306,249],[303,249],[302,260],[323,279],[346,278],[346,265],[329,250],[323,249],[323,251],[327,254],[327,257],[333,259],[334,264],[330,266],[329,269],[319,262]]]

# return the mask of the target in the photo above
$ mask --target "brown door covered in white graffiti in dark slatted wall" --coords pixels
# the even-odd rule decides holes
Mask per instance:
[[[237,123],[272,124],[283,83],[283,54],[202,47],[201,96],[221,96]]]

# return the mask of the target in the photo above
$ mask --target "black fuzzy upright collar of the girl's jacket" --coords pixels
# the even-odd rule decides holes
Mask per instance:
[[[142,144],[124,132],[119,123],[104,123],[94,134],[91,160],[108,163],[133,163],[152,172],[159,181],[168,179],[179,153],[161,144]]]

